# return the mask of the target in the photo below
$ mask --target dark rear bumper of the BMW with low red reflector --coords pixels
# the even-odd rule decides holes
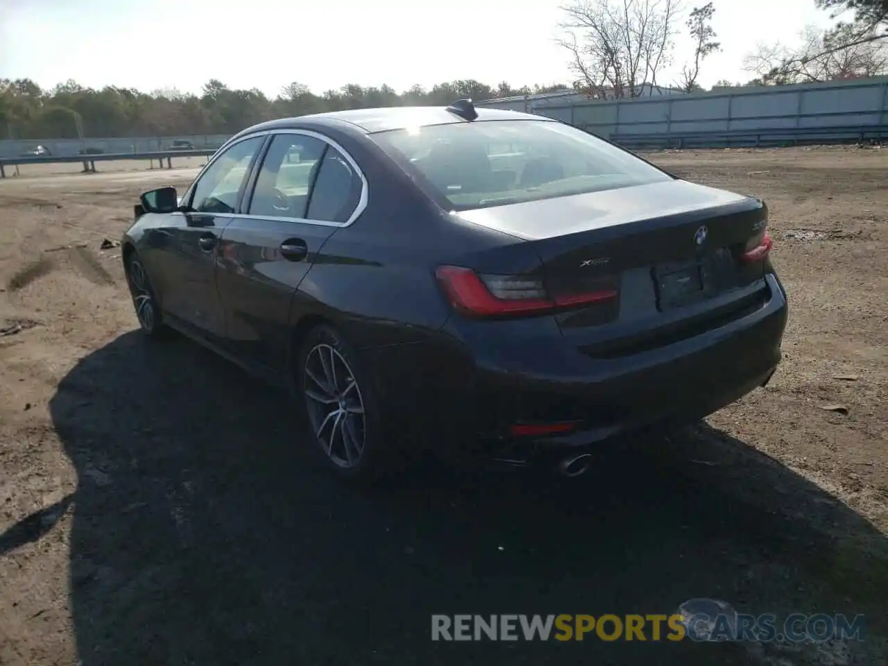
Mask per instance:
[[[589,447],[693,422],[764,385],[781,360],[788,314],[776,276],[765,282],[768,297],[754,312],[640,353],[591,358],[576,345],[551,344],[552,338],[509,346],[489,339],[472,345],[471,336],[468,345],[466,337],[455,344],[448,337],[373,350],[373,367],[393,422],[411,432],[415,444]],[[554,422],[574,429],[536,438],[511,434],[513,424]]]

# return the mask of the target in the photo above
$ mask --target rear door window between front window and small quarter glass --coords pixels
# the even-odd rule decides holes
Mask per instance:
[[[311,186],[327,144],[301,134],[277,134],[268,147],[250,215],[273,218],[305,218]]]

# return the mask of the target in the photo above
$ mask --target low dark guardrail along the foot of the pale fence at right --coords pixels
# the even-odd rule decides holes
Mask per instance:
[[[594,130],[583,128],[586,131]],[[803,143],[844,143],[888,139],[888,125],[758,128],[755,130],[673,131],[611,134],[610,140],[626,148],[711,148],[732,146],[785,146]]]

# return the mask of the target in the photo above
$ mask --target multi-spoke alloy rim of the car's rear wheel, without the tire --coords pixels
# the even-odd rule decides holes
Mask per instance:
[[[315,345],[305,356],[303,391],[324,453],[339,467],[354,467],[366,440],[364,402],[351,367],[335,347]]]

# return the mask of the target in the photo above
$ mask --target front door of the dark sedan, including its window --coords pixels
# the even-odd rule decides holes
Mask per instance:
[[[163,228],[163,309],[210,337],[225,331],[215,264],[222,229],[233,219],[264,136],[242,139],[219,153],[186,194],[186,212]]]

